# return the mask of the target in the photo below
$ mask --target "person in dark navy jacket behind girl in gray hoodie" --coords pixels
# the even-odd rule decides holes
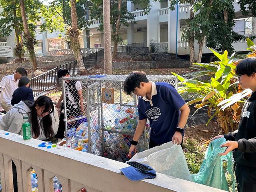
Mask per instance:
[[[18,104],[20,101],[32,101],[34,102],[34,95],[32,89],[29,88],[29,78],[21,77],[19,81],[19,88],[14,90],[12,95],[11,104]]]

